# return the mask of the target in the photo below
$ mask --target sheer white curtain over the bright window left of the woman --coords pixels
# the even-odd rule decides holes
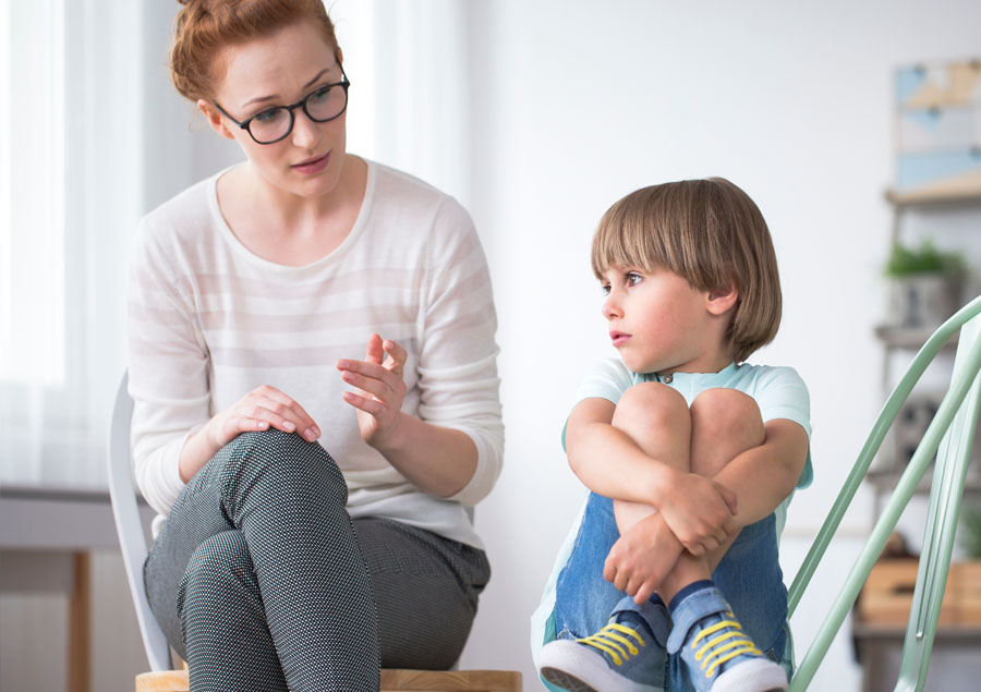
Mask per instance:
[[[140,3],[0,0],[0,482],[100,485],[142,205]]]

